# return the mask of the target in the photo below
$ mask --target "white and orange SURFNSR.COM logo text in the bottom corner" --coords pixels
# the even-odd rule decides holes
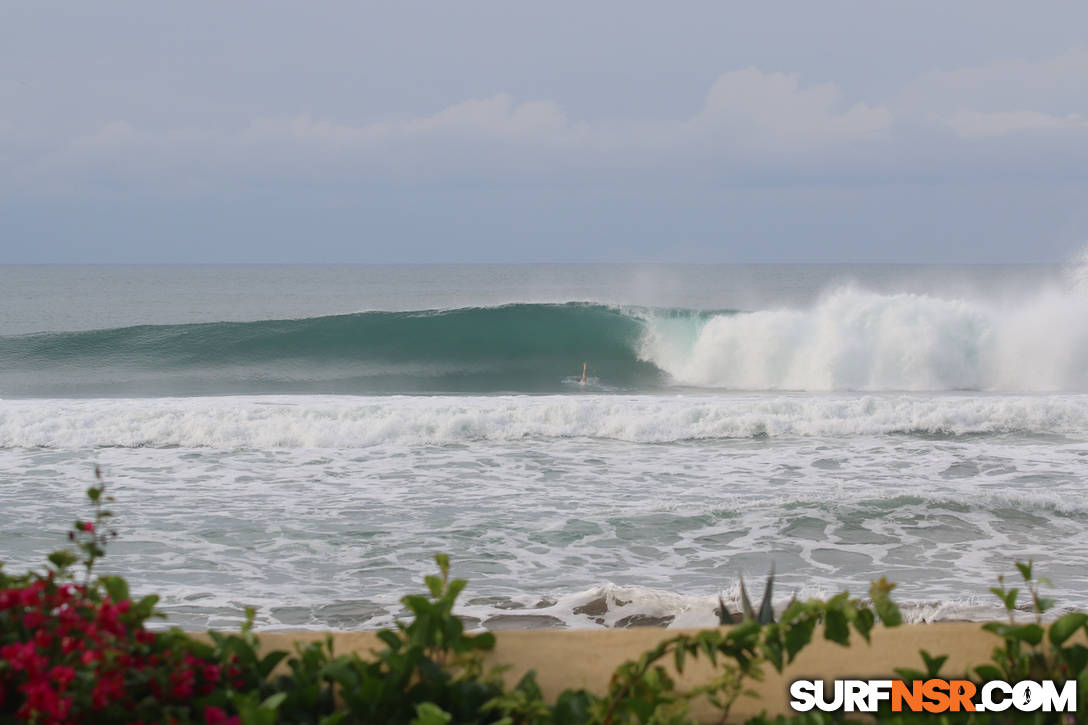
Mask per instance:
[[[1076,712],[1077,684],[1061,687],[1051,679],[981,686],[967,679],[799,679],[790,685],[790,706],[798,712],[877,712],[883,703],[892,712]],[[827,691],[830,690],[830,691]]]

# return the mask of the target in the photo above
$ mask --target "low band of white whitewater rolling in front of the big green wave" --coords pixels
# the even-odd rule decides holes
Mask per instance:
[[[1088,434],[1088,396],[585,395],[8,401],[0,448],[357,448],[524,439]]]

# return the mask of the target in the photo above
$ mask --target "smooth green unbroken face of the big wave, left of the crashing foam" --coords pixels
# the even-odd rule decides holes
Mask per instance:
[[[372,311],[0,339],[0,394],[557,392],[591,361],[619,389],[664,381],[638,314],[589,304]]]

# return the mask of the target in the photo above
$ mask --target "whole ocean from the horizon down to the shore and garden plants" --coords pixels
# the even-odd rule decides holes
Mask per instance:
[[[710,625],[772,566],[1086,607],[1085,270],[0,267],[0,560],[98,465],[103,570],[186,628],[385,626],[435,552],[491,629]]]

